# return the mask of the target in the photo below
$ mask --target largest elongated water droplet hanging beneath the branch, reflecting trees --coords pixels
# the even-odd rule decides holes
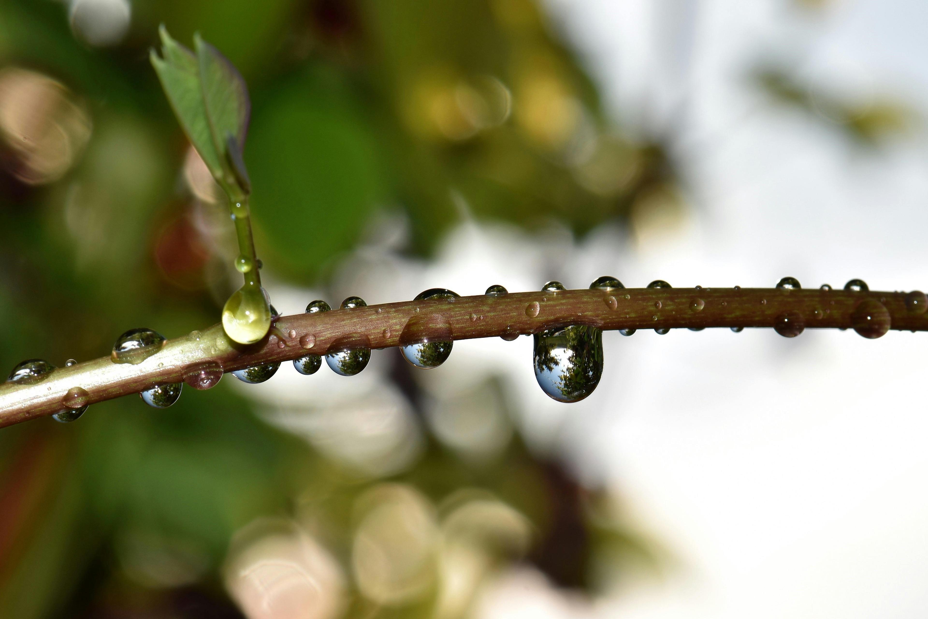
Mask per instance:
[[[535,334],[535,379],[559,402],[578,402],[602,377],[602,331],[574,325]]]

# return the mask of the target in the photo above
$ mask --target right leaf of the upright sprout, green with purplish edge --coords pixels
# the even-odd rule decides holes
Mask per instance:
[[[230,173],[229,180],[232,180],[240,174],[236,174],[230,161],[241,161],[241,148],[245,144],[251,116],[248,87],[235,66],[219,53],[219,50],[203,41],[199,34],[195,34],[193,40],[200,62],[200,89],[213,135],[213,145],[217,152],[226,155],[223,162]],[[235,139],[227,140],[227,135]],[[227,148],[236,148],[238,152],[229,151]]]

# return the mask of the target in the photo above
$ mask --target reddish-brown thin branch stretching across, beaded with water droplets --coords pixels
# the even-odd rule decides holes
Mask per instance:
[[[569,325],[599,329],[855,329],[877,338],[888,329],[928,330],[922,292],[784,289],[542,290],[453,300],[386,303],[316,314],[279,316],[261,342],[232,342],[222,325],[169,340],[137,365],[110,357],[58,368],[32,384],[0,384],[0,427],[187,382],[209,388],[223,372],[303,355],[388,348],[421,341],[469,340],[538,333]],[[419,316],[410,322],[414,316]],[[404,329],[409,329],[404,334]]]

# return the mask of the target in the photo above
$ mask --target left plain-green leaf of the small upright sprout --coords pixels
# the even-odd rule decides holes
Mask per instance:
[[[223,152],[215,147],[206,106],[200,88],[200,71],[197,58],[183,45],[178,44],[164,27],[161,27],[161,53],[159,58],[151,50],[151,64],[158,73],[164,94],[167,95],[174,115],[180,122],[187,139],[200,153],[206,167],[222,183],[224,173]]]

